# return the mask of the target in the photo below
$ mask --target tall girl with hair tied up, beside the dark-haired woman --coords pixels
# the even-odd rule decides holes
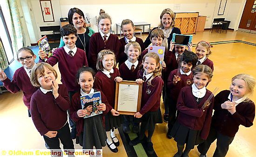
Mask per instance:
[[[99,33],[94,33],[89,43],[89,64],[96,71],[97,56],[101,50],[108,49],[115,53],[116,60],[120,50],[120,42],[115,34],[109,32],[111,28],[111,18],[108,13],[102,13],[97,24],[100,28]]]

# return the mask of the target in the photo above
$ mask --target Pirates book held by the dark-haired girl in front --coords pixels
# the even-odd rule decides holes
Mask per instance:
[[[81,105],[83,110],[87,110],[86,116],[88,118],[101,114],[102,111],[98,111],[97,106],[101,104],[101,92],[94,92],[86,96],[81,96]]]

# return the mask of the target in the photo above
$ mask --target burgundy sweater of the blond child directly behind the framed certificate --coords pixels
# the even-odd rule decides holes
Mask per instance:
[[[131,72],[125,63],[121,64],[118,68],[121,78],[127,81],[135,81],[137,79],[137,74],[138,74],[138,71],[140,70],[140,66],[141,66],[141,62],[139,61],[135,70]]]

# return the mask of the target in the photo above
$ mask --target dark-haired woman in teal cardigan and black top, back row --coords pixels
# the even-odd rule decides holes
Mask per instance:
[[[86,57],[88,58],[89,52],[89,41],[91,36],[94,33],[94,30],[90,27],[84,27],[85,25],[85,16],[84,13],[74,7],[68,11],[68,22],[73,25],[77,30],[77,40],[75,42],[75,46],[84,50],[86,52]],[[65,46],[64,41],[61,39],[60,46]]]

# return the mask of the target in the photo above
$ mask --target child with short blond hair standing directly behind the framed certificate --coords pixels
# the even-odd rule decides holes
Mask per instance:
[[[138,61],[141,53],[141,46],[136,41],[131,41],[126,45],[124,52],[128,56],[128,59],[119,66],[121,78],[123,80],[135,81],[141,65],[141,62]],[[134,123],[133,119],[134,116],[132,115],[124,115],[123,131],[127,134],[131,132],[129,127],[130,124],[133,124],[134,133],[139,132],[139,123]]]

